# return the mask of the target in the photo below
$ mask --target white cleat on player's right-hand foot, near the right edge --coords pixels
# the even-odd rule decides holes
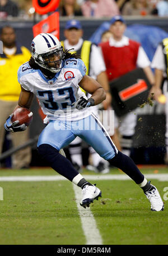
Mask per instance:
[[[153,187],[153,189],[151,191],[146,191],[144,194],[151,203],[151,210],[155,212],[160,212],[161,210],[164,210],[164,202],[162,201],[157,188],[152,184],[151,186]]]

